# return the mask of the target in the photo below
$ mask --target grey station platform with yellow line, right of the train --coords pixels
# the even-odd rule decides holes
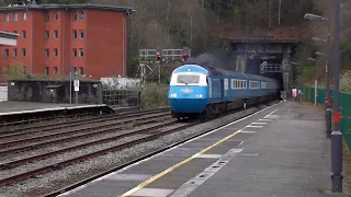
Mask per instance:
[[[59,196],[327,197],[324,114],[282,102]],[[346,181],[344,181],[346,183]]]

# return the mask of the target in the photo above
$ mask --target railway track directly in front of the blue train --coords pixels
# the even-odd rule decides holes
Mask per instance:
[[[80,148],[83,148],[83,147],[87,147],[87,146],[103,143],[103,142],[106,142],[106,141],[113,141],[113,140],[125,138],[127,136],[140,135],[135,140],[131,140],[131,141],[127,141],[127,142],[122,142],[120,144],[115,144],[115,146],[112,146],[110,148],[105,148],[105,149],[102,149],[102,150],[93,151],[93,152],[90,152],[90,153],[87,153],[87,154],[83,154],[83,155],[79,155],[79,157],[76,157],[76,158],[71,158],[71,159],[68,159],[68,160],[65,160],[65,161],[55,162],[53,164],[45,165],[45,166],[42,166],[42,167],[38,167],[38,169],[32,169],[32,170],[29,170],[26,172],[22,172],[22,173],[15,174],[15,175],[7,176],[7,177],[0,179],[0,186],[12,184],[14,182],[19,182],[19,181],[32,177],[32,176],[37,175],[37,174],[42,174],[42,173],[45,173],[45,172],[48,172],[48,171],[57,170],[57,169],[64,167],[66,165],[72,164],[72,163],[81,162],[81,161],[84,161],[84,160],[88,160],[88,159],[91,159],[91,158],[94,158],[94,157],[98,157],[98,155],[102,155],[102,154],[105,154],[107,152],[117,151],[117,150],[122,150],[122,149],[128,148],[128,147],[137,144],[137,143],[151,141],[151,140],[155,140],[155,139],[157,139],[157,138],[159,138],[161,136],[165,136],[165,135],[168,135],[168,134],[171,134],[171,132],[176,132],[176,131],[181,130],[181,129],[185,129],[185,128],[192,127],[194,125],[197,125],[199,123],[179,124],[179,126],[176,126],[174,128],[168,128],[168,129],[165,129],[165,130],[157,130],[157,129],[160,129],[162,127],[170,126],[170,125],[173,125],[173,124],[179,124],[179,123],[176,121],[176,120],[169,120],[169,121],[166,121],[166,123],[158,124],[156,126],[151,126],[151,127],[143,128],[143,129],[135,130],[135,131],[132,131],[132,132],[127,132],[127,134],[124,134],[124,135],[115,136],[113,138],[106,138],[106,139],[100,140],[100,141],[91,142],[91,143],[84,143],[84,144],[81,144],[81,146],[70,147],[70,148],[67,148],[66,150],[54,151],[54,152],[39,154],[39,155],[36,155],[36,157],[32,157],[32,158],[26,158],[26,159],[23,159],[23,160],[16,160],[16,161],[3,163],[3,164],[1,164],[2,169],[13,167],[13,166],[16,166],[16,165],[20,165],[20,164],[23,164],[23,163],[33,162],[33,161],[42,160],[44,158],[53,157],[53,155],[59,154],[61,152],[66,152],[68,150],[76,150],[76,149],[80,149]]]

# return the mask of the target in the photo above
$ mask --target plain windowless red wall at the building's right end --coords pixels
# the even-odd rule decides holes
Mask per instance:
[[[87,11],[87,74],[95,79],[123,76],[124,19],[123,13]]]

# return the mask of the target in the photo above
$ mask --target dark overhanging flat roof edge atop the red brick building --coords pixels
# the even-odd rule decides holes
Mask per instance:
[[[101,4],[26,4],[26,5],[15,5],[15,7],[0,7],[0,12],[19,11],[19,10],[100,10],[100,11],[112,11],[112,12],[125,12],[132,14],[135,12],[134,8],[129,7],[112,7],[112,5],[101,5]]]

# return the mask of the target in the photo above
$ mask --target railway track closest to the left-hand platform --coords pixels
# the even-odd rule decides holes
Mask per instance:
[[[89,117],[83,119],[72,119],[72,120],[61,121],[61,123],[48,123],[45,125],[39,125],[39,124],[30,125],[21,128],[12,128],[9,130],[0,131],[0,139],[21,136],[23,134],[35,134],[38,131],[49,131],[53,129],[76,127],[76,126],[81,126],[81,125],[92,124],[92,123],[102,123],[102,121],[118,119],[121,117],[125,118],[125,117],[134,117],[136,115],[154,114],[157,112],[168,112],[169,109],[170,107],[163,107],[163,108],[150,109],[150,111],[137,111],[137,112],[127,112],[127,113],[118,113],[118,114],[109,114],[104,116],[94,116],[94,117]]]

